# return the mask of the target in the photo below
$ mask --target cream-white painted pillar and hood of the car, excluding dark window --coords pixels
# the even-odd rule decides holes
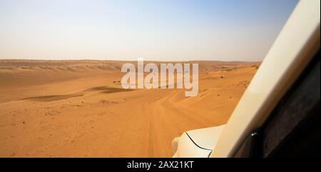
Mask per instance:
[[[320,0],[301,0],[224,126],[183,133],[173,157],[233,157],[320,49]]]

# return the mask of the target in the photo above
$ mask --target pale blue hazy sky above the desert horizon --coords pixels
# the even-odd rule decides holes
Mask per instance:
[[[297,0],[1,0],[0,59],[260,61]]]

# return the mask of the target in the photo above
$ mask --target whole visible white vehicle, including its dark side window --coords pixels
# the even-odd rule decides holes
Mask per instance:
[[[186,131],[173,157],[320,153],[320,0],[301,0],[223,126]]]

